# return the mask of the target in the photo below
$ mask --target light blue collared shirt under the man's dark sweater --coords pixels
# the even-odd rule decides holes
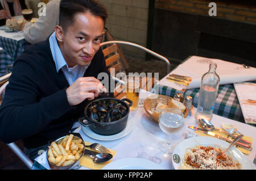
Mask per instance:
[[[73,66],[73,68],[69,68],[65,58],[63,57],[63,54],[60,51],[55,32],[53,32],[49,37],[49,44],[56,70],[57,72],[59,72],[60,69],[63,71],[69,85],[72,85],[72,83],[75,82],[77,78],[84,77],[85,70],[90,64],[87,66],[76,65]]]

